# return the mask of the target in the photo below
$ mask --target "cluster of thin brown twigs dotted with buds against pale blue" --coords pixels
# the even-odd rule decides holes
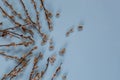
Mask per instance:
[[[8,19],[13,25],[5,26],[4,24],[7,24],[7,22],[0,20],[0,39],[9,39],[7,43],[0,43],[0,55],[16,62],[16,66],[9,70],[8,73],[3,74],[1,80],[21,80],[20,78],[18,79],[18,76],[24,73],[30,63],[33,65],[28,80],[43,80],[49,65],[54,66],[57,56],[63,57],[66,52],[66,47],[63,47],[57,52],[58,54],[44,57],[44,49],[48,49],[49,51],[55,49],[54,39],[50,37],[51,32],[54,30],[52,17],[55,16],[56,18],[59,18],[60,13],[57,12],[56,15],[53,15],[52,12],[46,8],[47,5],[45,5],[44,0],[38,0],[39,3],[36,2],[36,0],[29,0],[35,12],[34,16],[30,16],[25,1],[26,0],[18,0],[23,9],[22,12],[15,9],[15,4],[13,5],[10,0],[2,0],[4,7],[11,12],[10,14],[3,6],[0,6],[0,15],[2,15],[3,18]],[[47,23],[48,33],[44,31],[46,28],[42,26],[42,22],[40,21],[42,12],[44,13],[42,16],[44,16]],[[24,13],[24,16],[22,13]],[[36,20],[33,20],[33,17],[35,17]],[[83,29],[82,25],[78,26],[77,29],[78,31],[81,31]],[[65,33],[65,36],[68,37],[72,32],[74,32],[74,28],[68,30]],[[47,44],[49,46],[46,48],[45,46]],[[20,52],[16,53],[15,51],[19,49],[21,49]],[[31,60],[32,58],[34,58],[33,61]],[[40,65],[39,63],[44,58],[46,59],[45,67],[44,69],[41,69],[41,66],[43,65]],[[55,71],[51,74],[50,80],[56,79],[60,74],[62,64],[63,62],[61,61]],[[67,76],[63,74],[61,78],[62,80],[66,80]]]

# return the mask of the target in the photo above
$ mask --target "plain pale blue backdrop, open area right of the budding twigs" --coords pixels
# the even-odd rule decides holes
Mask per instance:
[[[53,13],[61,13],[53,20],[52,34],[57,47],[68,44],[63,64],[68,80],[120,80],[120,1],[46,1]],[[84,25],[83,31],[75,31],[69,38],[63,36],[69,27],[79,24]],[[1,72],[4,63],[0,58]]]

